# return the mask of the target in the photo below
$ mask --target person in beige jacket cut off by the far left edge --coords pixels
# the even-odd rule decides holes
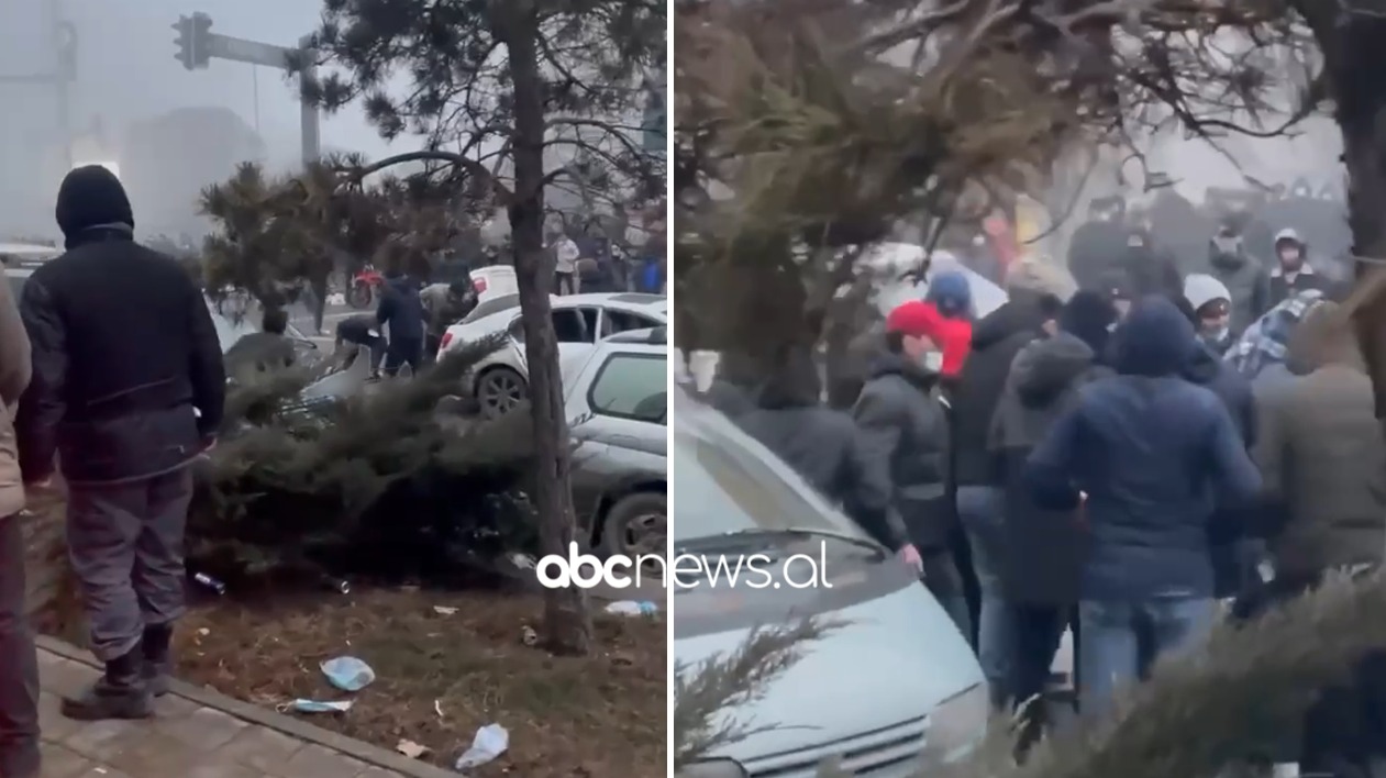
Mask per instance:
[[[25,614],[24,478],[14,410],[29,386],[29,336],[10,284],[0,283],[0,775],[39,775],[39,657]]]

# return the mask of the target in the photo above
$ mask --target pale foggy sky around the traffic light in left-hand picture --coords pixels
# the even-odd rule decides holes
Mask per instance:
[[[251,65],[212,61],[205,71],[184,71],[173,55],[180,14],[204,11],[212,32],[294,44],[313,31],[320,0],[3,0],[0,1],[0,75],[47,71],[54,64],[49,24],[55,7],[76,25],[78,82],[72,90],[76,133],[98,118],[116,137],[133,122],[186,105],[230,108],[255,126],[255,80]],[[279,72],[258,68],[259,132],[273,165],[299,157],[299,112],[291,85]],[[0,230],[14,230],[14,214],[47,215],[36,232],[51,227],[51,197],[62,175],[57,143],[55,96],[35,85],[0,83]],[[391,150],[356,108],[322,123],[324,150],[352,150],[378,158]],[[395,148],[414,143],[401,139]],[[10,215],[10,218],[6,218]],[[32,221],[36,216],[26,216]]]

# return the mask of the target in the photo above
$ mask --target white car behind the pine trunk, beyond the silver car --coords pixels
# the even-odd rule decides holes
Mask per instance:
[[[550,298],[550,305],[560,366],[584,358],[602,338],[665,326],[669,311],[668,298],[633,291],[570,294]],[[477,316],[482,306],[489,309]],[[513,302],[493,298],[478,305],[460,323],[448,327],[438,344],[438,358],[442,359],[450,349],[495,333],[509,334],[506,345],[477,365],[471,386],[466,387],[475,394],[486,416],[514,408],[529,391],[520,297],[514,295]]]

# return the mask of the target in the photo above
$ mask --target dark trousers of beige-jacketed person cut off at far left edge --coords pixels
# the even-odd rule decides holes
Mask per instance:
[[[24,534],[0,517],[0,775],[30,775],[39,764],[39,656],[24,612]]]

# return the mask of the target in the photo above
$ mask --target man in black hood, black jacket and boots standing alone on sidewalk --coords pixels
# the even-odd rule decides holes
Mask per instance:
[[[61,460],[68,552],[105,674],[62,702],[68,717],[143,718],[166,689],[183,614],[188,465],[216,441],[226,370],[201,290],[134,243],[121,182],[78,168],[58,190],[67,252],[24,286],[33,380],[19,404],[29,484]]]

